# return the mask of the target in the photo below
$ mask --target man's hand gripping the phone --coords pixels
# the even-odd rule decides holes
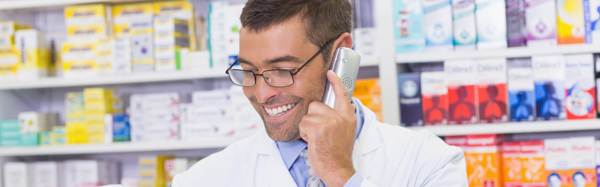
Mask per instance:
[[[300,136],[308,143],[313,171],[325,185],[342,187],[356,173],[352,166],[352,149],[356,139],[355,105],[350,103],[340,77],[327,71],[335,93],[335,107],[311,102],[308,114],[299,124]]]

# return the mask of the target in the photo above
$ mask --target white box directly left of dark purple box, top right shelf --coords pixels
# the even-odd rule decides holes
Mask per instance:
[[[503,0],[475,0],[477,49],[506,48],[506,5]]]

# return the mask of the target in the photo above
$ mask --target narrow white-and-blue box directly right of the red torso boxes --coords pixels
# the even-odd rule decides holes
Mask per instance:
[[[535,86],[531,58],[508,60],[508,101],[511,122],[535,120]]]

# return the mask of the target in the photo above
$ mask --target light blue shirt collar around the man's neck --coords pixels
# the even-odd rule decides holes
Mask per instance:
[[[356,109],[354,111],[354,114],[356,116],[356,138],[358,138],[358,135],[361,134],[361,129],[362,129],[362,125],[364,125],[364,113],[361,110],[361,102],[357,102],[358,99],[356,98],[352,98],[352,103],[354,103],[356,105]],[[277,148],[279,149],[279,152],[281,154],[281,158],[283,158],[283,162],[286,164],[287,170],[289,170],[292,167],[292,164],[294,164],[294,162],[296,161],[296,159],[298,158],[298,156],[300,155],[300,152],[302,152],[302,150],[304,150],[306,147],[308,147],[307,143],[304,143],[304,141],[302,140],[295,140],[295,141],[290,141],[290,142],[280,142],[280,141],[275,141],[275,143],[277,143]]]

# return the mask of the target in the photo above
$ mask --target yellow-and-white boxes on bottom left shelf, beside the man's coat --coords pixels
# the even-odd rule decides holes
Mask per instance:
[[[164,161],[173,159],[173,156],[140,156],[139,187],[165,187],[170,181],[165,180]]]

